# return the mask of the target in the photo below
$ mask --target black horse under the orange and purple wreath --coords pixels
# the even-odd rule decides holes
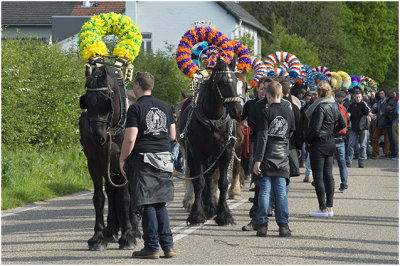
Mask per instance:
[[[234,69],[234,60],[227,64],[218,58],[212,74],[200,86],[197,103],[193,104],[196,100],[189,98],[182,107],[179,131],[184,134],[181,143],[187,154],[195,194],[187,218],[191,225],[204,223],[215,214],[218,225],[234,223],[226,202],[227,171],[235,145],[233,119],[242,113]],[[217,168],[220,171],[218,205],[213,186]]]

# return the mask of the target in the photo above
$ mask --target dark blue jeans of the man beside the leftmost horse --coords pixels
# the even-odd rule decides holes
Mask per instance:
[[[163,250],[170,250],[174,247],[165,202],[143,206],[142,227],[146,250],[158,252],[159,243]]]

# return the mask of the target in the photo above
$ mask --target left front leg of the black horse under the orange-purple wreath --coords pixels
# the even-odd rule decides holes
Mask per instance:
[[[191,175],[197,176],[201,173],[202,160],[193,159],[192,154],[188,154],[188,166],[190,166]],[[206,215],[204,213],[203,206],[203,189],[204,189],[204,177],[200,176],[192,180],[193,188],[194,188],[194,203],[192,206],[192,210],[190,211],[189,217],[186,219],[186,222],[190,225],[198,225],[206,222]]]

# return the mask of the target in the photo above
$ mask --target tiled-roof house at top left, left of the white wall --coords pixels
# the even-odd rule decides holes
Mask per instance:
[[[2,1],[2,35],[37,35],[43,40],[61,41],[79,33],[94,14],[125,13],[125,2]]]

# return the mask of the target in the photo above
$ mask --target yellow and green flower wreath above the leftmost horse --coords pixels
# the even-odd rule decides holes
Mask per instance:
[[[133,61],[139,54],[142,35],[137,25],[125,15],[110,12],[92,16],[83,24],[78,44],[85,60],[108,54],[103,42],[106,35],[115,35],[119,39],[113,55]]]

